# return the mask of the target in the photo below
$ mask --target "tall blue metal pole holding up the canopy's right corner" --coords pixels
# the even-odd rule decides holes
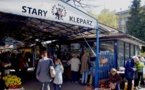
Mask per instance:
[[[95,88],[98,88],[99,82],[99,29],[96,30],[96,61],[95,61]]]

